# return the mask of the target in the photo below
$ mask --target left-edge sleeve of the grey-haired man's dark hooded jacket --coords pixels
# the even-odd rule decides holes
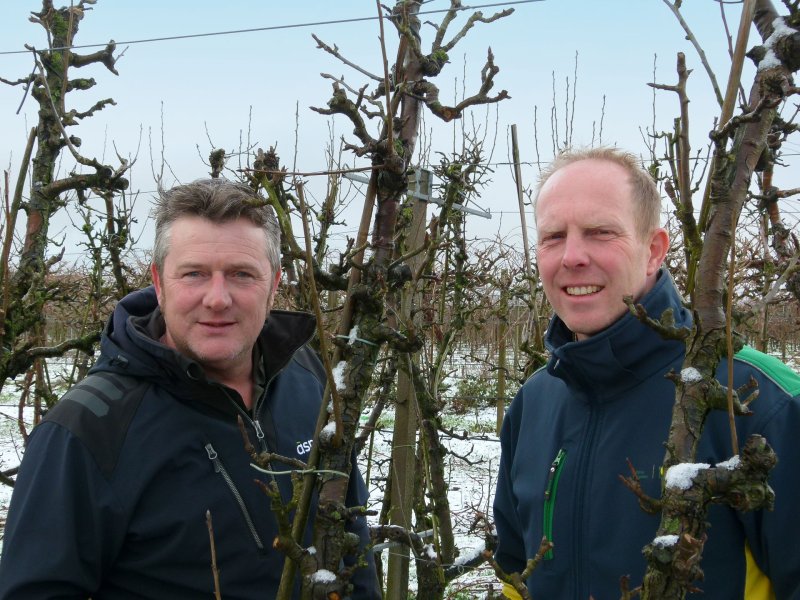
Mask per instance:
[[[114,504],[79,440],[53,423],[36,427],[11,497],[0,600],[89,597],[118,547]]]

